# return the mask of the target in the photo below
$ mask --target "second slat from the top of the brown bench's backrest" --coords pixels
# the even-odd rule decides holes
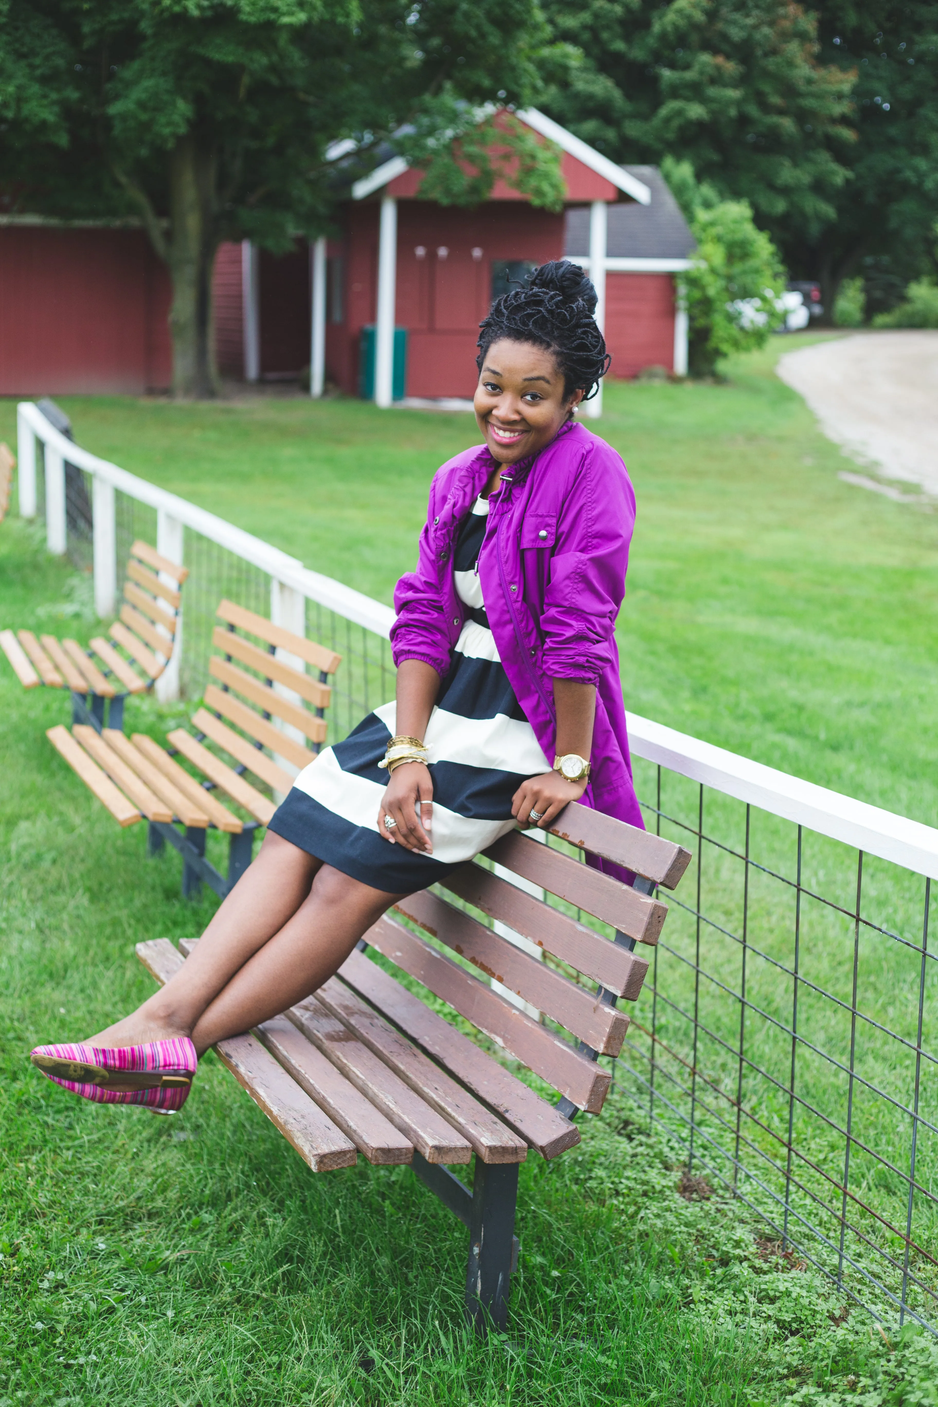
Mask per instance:
[[[612,923],[613,929],[638,943],[654,944],[661,936],[667,905],[638,893],[612,875],[592,870],[572,855],[564,855],[518,832],[502,836],[485,854],[603,923]]]

